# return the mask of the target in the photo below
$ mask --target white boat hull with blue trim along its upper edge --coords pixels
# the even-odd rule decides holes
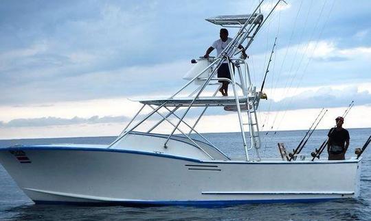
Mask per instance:
[[[359,195],[360,160],[200,161],[107,148],[11,148],[4,168],[35,203],[202,205]]]

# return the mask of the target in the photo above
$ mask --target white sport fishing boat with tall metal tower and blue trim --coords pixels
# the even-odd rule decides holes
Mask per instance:
[[[274,10],[265,17],[258,13],[260,4],[251,14],[206,19],[237,27],[238,33],[218,57],[200,58],[178,92],[165,99],[139,100],[141,109],[111,144],[1,147],[1,164],[35,203],[227,205],[356,198],[359,156],[328,161],[315,158],[319,151],[313,159],[297,157],[297,151],[291,157],[260,157],[256,109],[266,96],[251,83],[249,65],[238,49],[249,48]],[[221,80],[216,71],[223,62],[233,73],[231,80],[222,79],[232,86],[231,96],[216,96]],[[188,96],[181,95],[192,87]],[[214,88],[214,94],[207,94],[206,88]],[[150,113],[137,119],[145,108]],[[201,109],[192,123],[185,120],[191,108]],[[243,145],[233,148],[243,148],[245,159],[231,159],[196,131],[212,108],[238,116]],[[155,115],[161,117],[155,125],[137,130]],[[172,125],[169,133],[153,133],[163,122]]]

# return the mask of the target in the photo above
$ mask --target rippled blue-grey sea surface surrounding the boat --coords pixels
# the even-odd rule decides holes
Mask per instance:
[[[326,139],[326,130],[313,133],[302,153],[310,154]],[[306,131],[262,132],[261,155],[278,157],[278,142],[292,149]],[[371,135],[371,129],[349,129],[347,157],[354,156]],[[229,156],[243,158],[240,133],[205,133]],[[15,144],[109,144],[114,137],[0,140],[0,146]],[[369,146],[371,148],[371,145]],[[322,157],[327,157],[326,153]],[[297,174],[300,176],[300,174]],[[265,203],[229,207],[91,207],[34,205],[0,165],[0,220],[371,220],[371,150],[363,154],[361,195],[357,199],[324,203]]]

